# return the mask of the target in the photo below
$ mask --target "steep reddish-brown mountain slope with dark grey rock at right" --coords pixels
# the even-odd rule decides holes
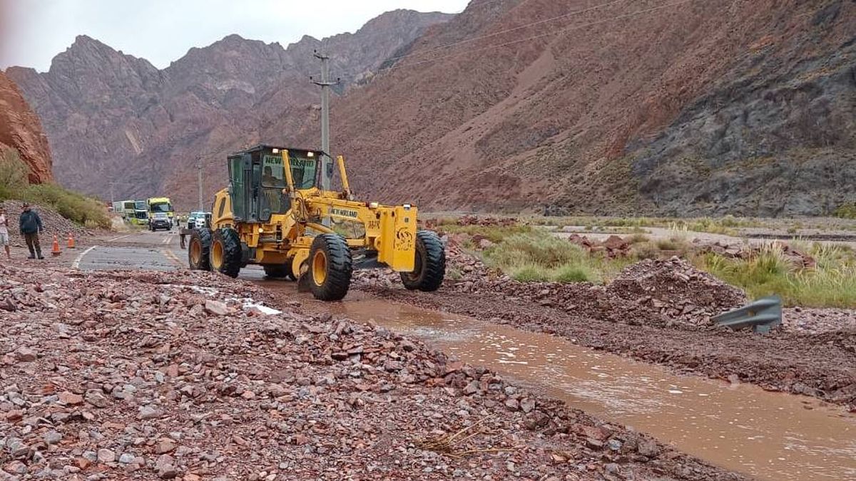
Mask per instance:
[[[426,33],[334,106],[355,186],[476,210],[818,215],[853,201],[856,3],[604,5],[473,3]]]

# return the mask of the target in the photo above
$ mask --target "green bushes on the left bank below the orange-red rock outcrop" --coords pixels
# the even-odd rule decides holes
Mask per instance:
[[[110,229],[110,217],[98,199],[57,184],[30,184],[27,164],[15,150],[0,155],[0,200],[18,199],[42,205],[87,228]]]

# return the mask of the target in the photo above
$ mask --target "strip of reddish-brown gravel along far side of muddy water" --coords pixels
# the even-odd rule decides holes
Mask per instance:
[[[580,346],[668,365],[678,372],[724,380],[736,377],[767,390],[811,395],[856,408],[856,335],[852,332],[812,335],[778,331],[758,336],[749,331],[689,330],[604,321],[584,310],[570,314],[502,294],[449,288],[437,293],[363,289],[413,306],[555,332]]]

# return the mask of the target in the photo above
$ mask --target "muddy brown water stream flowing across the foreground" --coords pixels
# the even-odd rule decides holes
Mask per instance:
[[[259,282],[311,310],[373,322],[484,365],[716,466],[759,479],[856,479],[856,415],[803,396],[749,384],[678,376],[561,337],[376,300],[352,292],[321,303],[294,284]],[[292,298],[294,298],[292,297]]]

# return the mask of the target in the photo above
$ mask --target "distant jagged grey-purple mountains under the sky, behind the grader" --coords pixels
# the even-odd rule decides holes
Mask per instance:
[[[163,70],[80,36],[48,72],[7,74],[42,117],[63,185],[105,198],[111,188],[117,198],[168,193],[189,209],[197,199],[187,183],[196,178],[197,156],[208,199],[223,186],[226,153],[262,140],[294,141],[288,131],[262,139],[261,126],[318,115],[318,87],[309,80],[320,68],[313,50],[336,52],[331,68],[344,88],[448,18],[396,10],[356,33],[304,37],[285,49],[229,35]]]

